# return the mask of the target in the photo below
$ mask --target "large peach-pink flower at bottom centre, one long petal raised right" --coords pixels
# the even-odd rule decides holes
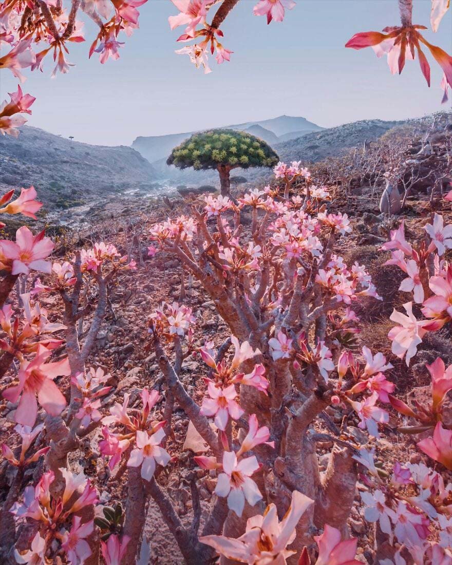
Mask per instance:
[[[286,546],[294,541],[295,527],[312,502],[294,490],[292,502],[281,521],[278,520],[276,506],[270,504],[263,516],[256,515],[247,520],[246,531],[239,538],[204,536],[199,541],[214,547],[220,555],[234,562],[285,565],[286,558],[296,553],[287,550]]]

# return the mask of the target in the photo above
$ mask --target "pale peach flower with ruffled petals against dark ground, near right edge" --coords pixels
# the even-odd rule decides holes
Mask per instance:
[[[406,354],[406,364],[409,366],[411,358],[416,355],[418,345],[422,342],[422,338],[427,332],[424,325],[428,320],[418,321],[412,313],[412,302],[403,305],[407,315],[394,310],[390,315],[390,320],[399,323],[392,328],[388,337],[392,340],[392,352],[400,359]]]

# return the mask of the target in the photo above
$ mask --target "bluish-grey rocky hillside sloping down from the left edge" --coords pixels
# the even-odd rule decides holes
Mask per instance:
[[[34,185],[47,210],[151,192],[157,172],[124,145],[88,145],[24,126],[18,138],[0,137],[0,189]]]

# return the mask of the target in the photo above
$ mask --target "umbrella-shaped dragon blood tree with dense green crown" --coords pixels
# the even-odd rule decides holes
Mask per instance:
[[[171,151],[168,165],[197,171],[216,169],[220,175],[221,195],[227,196],[231,187],[229,173],[234,168],[273,167],[279,157],[265,141],[233,129],[212,129],[194,133]]]

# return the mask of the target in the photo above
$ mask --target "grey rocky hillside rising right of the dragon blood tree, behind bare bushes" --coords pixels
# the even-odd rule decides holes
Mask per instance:
[[[282,161],[302,160],[316,162],[325,157],[337,156],[343,149],[358,147],[364,140],[375,141],[389,129],[403,121],[361,120],[351,124],[304,134],[293,140],[273,145]]]

